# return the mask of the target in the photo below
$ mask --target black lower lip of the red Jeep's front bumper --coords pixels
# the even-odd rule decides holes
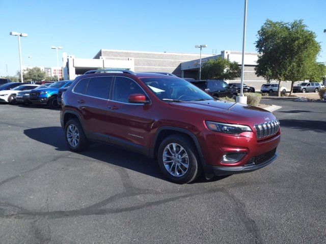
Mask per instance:
[[[273,157],[260,164],[252,164],[252,165],[237,166],[237,167],[204,165],[204,172],[208,175],[218,175],[218,176],[247,173],[267,166],[268,164],[276,160],[277,157],[278,154],[275,154]]]

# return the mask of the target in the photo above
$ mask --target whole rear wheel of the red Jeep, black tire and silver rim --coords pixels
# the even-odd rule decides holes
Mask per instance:
[[[74,137],[77,140],[75,145],[72,140],[68,140],[68,136],[71,138],[73,132],[75,134],[78,133],[78,136],[76,135],[76,137]],[[88,147],[88,140],[85,136],[83,127],[76,118],[70,119],[65,125],[65,138],[67,146],[71,151],[82,151]]]

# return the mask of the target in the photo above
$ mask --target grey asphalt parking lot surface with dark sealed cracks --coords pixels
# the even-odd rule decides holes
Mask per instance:
[[[326,103],[282,106],[279,158],[176,185],[151,159],[68,151],[59,110],[0,105],[1,243],[325,243]]]

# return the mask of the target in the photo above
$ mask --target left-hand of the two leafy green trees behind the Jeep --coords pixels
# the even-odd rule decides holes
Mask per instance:
[[[265,21],[258,31],[256,49],[259,52],[256,75],[264,77],[267,81],[278,80],[278,95],[281,96],[281,81],[284,80],[287,71],[285,40],[288,37],[288,26],[282,21]]]

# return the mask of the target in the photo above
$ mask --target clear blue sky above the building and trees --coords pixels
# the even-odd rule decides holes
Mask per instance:
[[[101,49],[197,52],[241,50],[243,0],[215,1],[14,1],[0,0],[0,75],[19,69],[17,37],[22,38],[23,65],[56,66],[55,50],[92,58]],[[255,51],[264,21],[303,19],[321,42],[318,60],[326,62],[326,1],[248,0],[246,51]]]

